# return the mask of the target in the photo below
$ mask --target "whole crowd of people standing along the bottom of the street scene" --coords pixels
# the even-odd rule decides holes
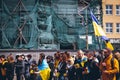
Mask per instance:
[[[72,53],[71,53],[72,54]],[[78,50],[76,55],[57,51],[54,55],[0,55],[0,80],[120,80],[120,52]]]

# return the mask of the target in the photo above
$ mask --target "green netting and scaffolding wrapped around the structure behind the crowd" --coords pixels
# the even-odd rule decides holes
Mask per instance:
[[[101,22],[101,0],[0,1],[2,49],[99,49],[89,9]]]

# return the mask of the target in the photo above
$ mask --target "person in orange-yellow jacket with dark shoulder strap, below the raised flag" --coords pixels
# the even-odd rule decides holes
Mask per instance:
[[[119,71],[118,61],[114,58],[114,67],[112,68],[112,51],[109,48],[103,49],[104,59],[100,63],[102,80],[116,80],[116,73]]]

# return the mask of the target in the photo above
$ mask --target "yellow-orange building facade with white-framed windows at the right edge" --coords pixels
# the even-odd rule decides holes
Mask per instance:
[[[103,28],[115,49],[120,49],[120,0],[102,0]]]

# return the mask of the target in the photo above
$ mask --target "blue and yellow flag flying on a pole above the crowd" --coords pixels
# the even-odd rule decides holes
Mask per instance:
[[[98,20],[97,18],[93,15],[92,11],[91,11],[91,17],[92,17],[92,23],[93,23],[93,27],[94,27],[94,32],[95,35],[98,37],[101,37],[106,44],[106,47],[114,50],[112,44],[109,42],[109,38],[106,37],[106,34],[104,32],[104,30],[102,29],[102,27],[98,24]]]

